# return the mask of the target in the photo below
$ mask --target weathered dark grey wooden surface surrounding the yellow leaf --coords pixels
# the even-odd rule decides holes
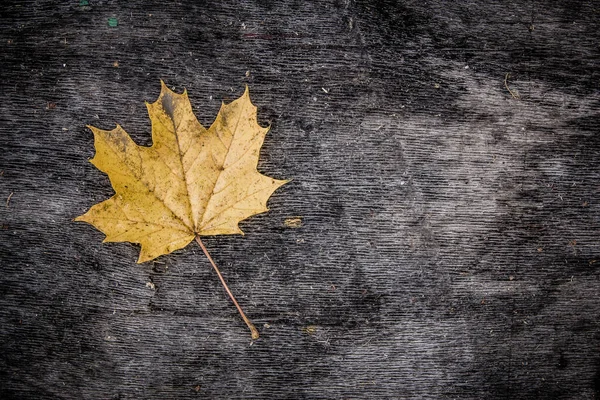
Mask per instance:
[[[2,399],[600,398],[598,2],[0,13]],[[194,243],[72,222],[112,195],[85,125],[150,144],[159,79],[204,125],[247,84],[293,179],[205,240],[254,343]]]

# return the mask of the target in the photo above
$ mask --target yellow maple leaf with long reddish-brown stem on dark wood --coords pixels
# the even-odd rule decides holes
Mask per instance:
[[[146,103],[152,146],[138,146],[119,125],[111,131],[89,126],[96,147],[90,161],[108,175],[115,195],[75,220],[103,232],[104,242],[139,243],[138,263],[195,239],[249,323],[200,236],[243,234],[238,223],[268,211],[267,200],[287,182],[256,169],[269,128],[258,125],[248,87],[239,99],[223,103],[206,129],[187,91],[177,94],[162,81],[161,86],[158,100]]]

